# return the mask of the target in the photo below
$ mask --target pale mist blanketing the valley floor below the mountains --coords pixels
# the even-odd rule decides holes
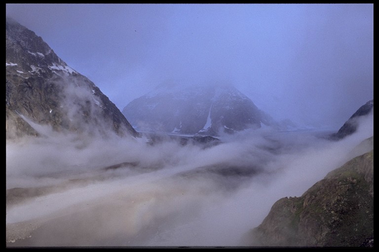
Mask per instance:
[[[359,125],[338,142],[266,127],[207,148],[47,129],[7,141],[7,246],[244,246],[276,200],[367,151],[355,147],[373,135],[373,112]]]

